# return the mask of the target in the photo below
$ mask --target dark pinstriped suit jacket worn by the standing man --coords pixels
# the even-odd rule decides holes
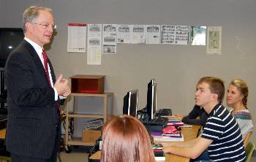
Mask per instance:
[[[49,61],[53,82],[56,77]],[[7,150],[16,155],[50,158],[59,138],[59,110],[45,69],[26,40],[11,53],[6,65]]]

